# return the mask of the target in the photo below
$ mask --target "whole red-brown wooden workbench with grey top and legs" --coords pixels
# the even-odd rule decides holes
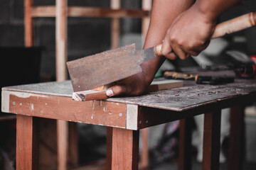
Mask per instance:
[[[177,89],[156,91],[143,96],[109,98],[105,101],[73,101],[70,81],[50,82],[2,89],[2,111],[17,114],[16,169],[37,169],[39,118],[67,120],[78,123],[104,125],[107,128],[107,168],[137,169],[139,130],[186,120],[194,115],[205,114],[203,138],[203,169],[218,169],[220,150],[220,110],[235,107],[233,122],[242,115],[240,106],[255,101],[256,81],[235,80],[221,86],[197,85],[185,81]],[[242,123],[231,131],[238,130]],[[189,127],[181,127],[186,134]],[[241,131],[241,130],[240,130]],[[231,135],[233,133],[231,132]],[[229,161],[232,169],[240,169],[240,146],[242,132],[236,132],[236,142],[230,147],[235,154]],[[190,169],[187,135],[180,144],[179,169]],[[113,147],[112,147],[113,146]],[[230,168],[231,169],[231,168]]]

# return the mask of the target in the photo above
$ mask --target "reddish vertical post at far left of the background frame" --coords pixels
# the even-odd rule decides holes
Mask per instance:
[[[24,0],[24,30],[25,30],[25,46],[32,47],[33,42],[33,18],[31,15],[33,0]]]

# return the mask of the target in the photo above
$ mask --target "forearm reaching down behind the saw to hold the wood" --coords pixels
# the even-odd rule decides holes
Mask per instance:
[[[183,11],[188,9],[193,4],[193,0],[160,0],[154,1],[149,30],[146,35],[144,48],[159,45],[164,40],[166,31],[171,26],[174,19]],[[154,78],[165,57],[158,57],[149,62],[142,64],[145,74],[148,75],[148,81]]]

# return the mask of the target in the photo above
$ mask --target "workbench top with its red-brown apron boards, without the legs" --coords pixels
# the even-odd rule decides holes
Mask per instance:
[[[104,101],[73,101],[72,93],[70,81],[4,87],[1,111],[139,130],[252,103],[256,99],[256,81],[236,79],[232,84],[218,86],[184,81],[180,88]]]

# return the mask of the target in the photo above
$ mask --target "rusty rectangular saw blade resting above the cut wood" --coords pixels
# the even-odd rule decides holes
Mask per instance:
[[[132,44],[67,62],[73,90],[94,89],[142,72],[140,64],[154,57],[153,47],[136,51]]]

